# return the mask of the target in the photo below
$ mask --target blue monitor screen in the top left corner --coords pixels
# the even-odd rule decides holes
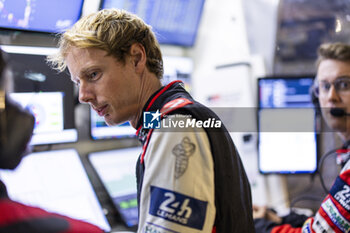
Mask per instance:
[[[82,7],[83,0],[3,0],[0,28],[62,32],[78,21]]]

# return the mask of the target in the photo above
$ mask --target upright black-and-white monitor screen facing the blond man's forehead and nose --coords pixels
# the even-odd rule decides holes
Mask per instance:
[[[67,73],[45,62],[53,48],[1,46],[8,53],[13,91],[10,97],[35,117],[31,145],[75,142],[74,87]]]

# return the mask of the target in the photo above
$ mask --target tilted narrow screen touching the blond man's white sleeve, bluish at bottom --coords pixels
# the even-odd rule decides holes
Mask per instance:
[[[138,224],[135,164],[141,147],[89,154],[89,161],[128,227]]]

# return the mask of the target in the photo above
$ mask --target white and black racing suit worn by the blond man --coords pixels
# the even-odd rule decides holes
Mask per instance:
[[[206,120],[211,129],[191,127]],[[137,131],[139,233],[254,232],[249,182],[220,122],[177,81],[151,96]]]

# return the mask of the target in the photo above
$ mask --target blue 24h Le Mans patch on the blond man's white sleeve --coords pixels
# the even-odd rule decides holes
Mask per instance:
[[[149,214],[183,226],[201,230],[208,202],[171,190],[151,186]]]

